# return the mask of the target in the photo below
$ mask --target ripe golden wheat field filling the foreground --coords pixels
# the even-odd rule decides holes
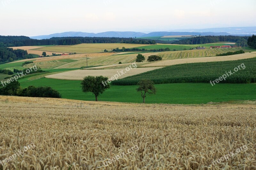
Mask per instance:
[[[0,96],[0,160],[35,146],[0,169],[255,169],[256,105],[244,103],[148,105]],[[247,149],[212,164],[243,146]]]

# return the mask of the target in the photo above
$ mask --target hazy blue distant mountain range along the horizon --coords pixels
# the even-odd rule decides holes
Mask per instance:
[[[202,35],[202,36],[239,35],[239,36],[242,36],[246,34],[251,35],[252,33],[256,33],[256,27],[207,28],[207,29],[197,29],[195,31],[184,29],[184,30],[180,30],[180,32],[152,32],[152,33],[140,33],[140,32],[131,32],[131,31],[126,31],[126,32],[108,31],[103,33],[65,32],[65,33],[54,33],[50,35],[31,36],[30,38],[32,39],[49,39],[52,37],[122,37],[122,38],[141,37],[143,38],[143,37],[174,36],[174,35]]]

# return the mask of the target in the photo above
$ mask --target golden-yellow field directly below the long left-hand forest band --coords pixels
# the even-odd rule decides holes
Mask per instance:
[[[36,50],[40,51],[56,51],[60,53],[99,53],[103,52],[104,49],[108,51],[112,51],[114,48],[137,48],[148,46],[148,44],[124,44],[124,43],[94,43],[94,44],[78,44],[72,46],[51,46],[51,47],[42,47],[36,48]]]

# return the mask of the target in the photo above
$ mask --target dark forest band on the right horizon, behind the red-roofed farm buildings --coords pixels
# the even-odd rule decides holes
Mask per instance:
[[[247,41],[249,36],[234,36],[234,35],[221,35],[221,36],[198,36],[189,39],[179,40],[173,42],[173,44],[207,44],[215,42],[236,42],[239,46],[248,46]]]

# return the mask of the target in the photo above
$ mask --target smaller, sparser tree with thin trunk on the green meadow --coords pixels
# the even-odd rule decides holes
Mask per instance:
[[[141,97],[143,98],[143,103],[145,103],[146,93],[148,94],[156,94],[156,88],[154,86],[154,82],[151,80],[140,80],[139,88],[137,88],[138,92],[141,92]]]

